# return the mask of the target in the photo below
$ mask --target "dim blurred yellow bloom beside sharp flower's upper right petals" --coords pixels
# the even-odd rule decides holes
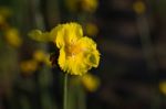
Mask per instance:
[[[94,36],[98,33],[98,29],[94,23],[87,23],[85,25],[85,31],[86,31],[86,34],[90,36]]]

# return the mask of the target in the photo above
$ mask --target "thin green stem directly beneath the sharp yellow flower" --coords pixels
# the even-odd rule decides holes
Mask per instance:
[[[68,74],[64,74],[63,109],[68,109]]]

